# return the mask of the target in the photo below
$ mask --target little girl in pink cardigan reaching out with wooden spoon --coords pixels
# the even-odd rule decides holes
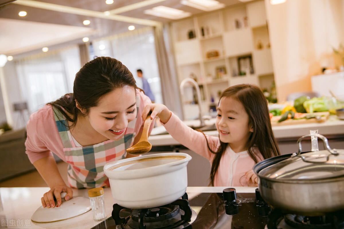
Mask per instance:
[[[256,186],[253,166],[279,155],[267,100],[255,85],[239,84],[222,93],[215,122],[219,137],[186,126],[162,104],[148,104],[142,116],[147,117],[149,111],[175,140],[211,162],[213,186]]]

